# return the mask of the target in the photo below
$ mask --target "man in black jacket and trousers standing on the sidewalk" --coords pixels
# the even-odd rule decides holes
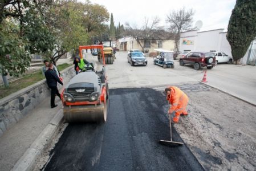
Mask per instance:
[[[49,69],[45,72],[46,82],[48,84],[48,87],[51,88],[51,108],[55,108],[57,106],[55,105],[55,95],[59,96],[61,100],[60,93],[57,88],[57,82],[62,84],[62,86],[63,86],[63,83],[62,81],[60,81],[59,76],[56,74],[56,72],[54,72],[53,64],[49,63],[48,67]]]

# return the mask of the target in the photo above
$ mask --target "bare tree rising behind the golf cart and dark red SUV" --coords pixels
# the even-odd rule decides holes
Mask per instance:
[[[167,15],[166,22],[169,23],[170,32],[174,33],[175,48],[178,51],[178,41],[180,40],[180,32],[192,29],[194,10],[186,10],[183,7],[180,10],[173,10]]]

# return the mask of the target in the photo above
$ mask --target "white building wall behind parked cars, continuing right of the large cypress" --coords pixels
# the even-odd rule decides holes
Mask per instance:
[[[226,39],[226,34],[227,32],[224,32],[224,28],[209,31],[192,30],[181,32],[180,51],[220,51],[231,56],[231,47]],[[255,61],[256,39],[251,43],[239,63],[255,65]]]

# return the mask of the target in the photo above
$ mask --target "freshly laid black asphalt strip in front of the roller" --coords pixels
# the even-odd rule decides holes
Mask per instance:
[[[155,89],[110,89],[107,122],[69,124],[43,170],[203,170],[186,145],[159,144],[170,140],[167,108]]]

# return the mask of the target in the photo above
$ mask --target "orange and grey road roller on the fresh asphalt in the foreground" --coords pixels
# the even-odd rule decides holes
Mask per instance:
[[[102,45],[80,46],[82,50]],[[103,55],[104,59],[104,55]],[[89,66],[85,66],[89,67]],[[61,96],[64,119],[68,122],[105,122],[107,120],[108,83],[105,77],[105,63],[101,71],[83,70],[64,87]]]

